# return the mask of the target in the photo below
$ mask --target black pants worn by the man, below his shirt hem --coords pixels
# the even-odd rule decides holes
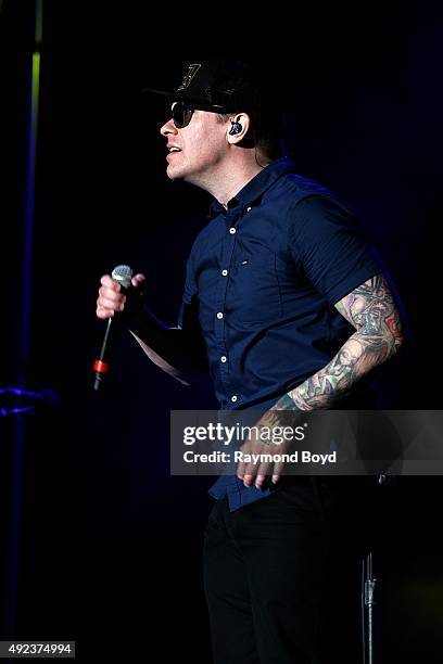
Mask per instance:
[[[214,664],[316,661],[328,500],[304,477],[235,512],[226,498],[215,503],[203,556]]]

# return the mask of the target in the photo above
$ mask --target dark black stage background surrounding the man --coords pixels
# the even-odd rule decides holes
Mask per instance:
[[[440,408],[441,16],[420,3],[401,13],[293,11],[45,7],[25,370],[27,385],[54,390],[60,406],[25,421],[20,638],[76,639],[85,655],[126,649],[129,661],[154,647],[168,661],[210,661],[200,565],[211,478],[169,477],[168,413],[215,406],[211,387],[175,384],[129,335],[104,394],[92,394],[90,371],[103,333],[100,276],[118,263],[144,272],[150,306],[174,323],[185,261],[205,222],[207,194],[165,177],[163,102],[140,102],[144,86],[177,85],[183,61],[233,55],[270,68],[287,91],[298,171],[354,204],[402,296],[410,339],[379,383],[382,404]],[[0,7],[0,386],[15,384],[22,369],[33,22],[31,2]],[[4,553],[11,419],[0,420],[0,436]],[[385,661],[441,661],[440,489],[440,477],[402,477],[383,494]]]

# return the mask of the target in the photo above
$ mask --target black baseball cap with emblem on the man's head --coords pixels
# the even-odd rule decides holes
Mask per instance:
[[[163,94],[170,101],[185,100],[203,111],[245,111],[256,120],[269,115],[271,104],[279,106],[258,71],[238,60],[193,60],[186,64],[176,90],[145,88],[142,92]]]

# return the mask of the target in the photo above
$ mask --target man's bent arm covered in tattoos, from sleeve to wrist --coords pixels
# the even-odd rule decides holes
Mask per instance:
[[[330,408],[403,343],[402,322],[389,284],[376,274],[340,299],[336,308],[356,328],[320,371],[281,397],[273,410]]]

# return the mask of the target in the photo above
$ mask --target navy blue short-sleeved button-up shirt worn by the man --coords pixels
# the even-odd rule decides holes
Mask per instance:
[[[382,266],[347,206],[288,157],[211,213],[179,327],[198,317],[223,409],[266,408],[338,353],[355,330],[333,305]],[[223,476],[210,493],[237,509],[269,491]]]

